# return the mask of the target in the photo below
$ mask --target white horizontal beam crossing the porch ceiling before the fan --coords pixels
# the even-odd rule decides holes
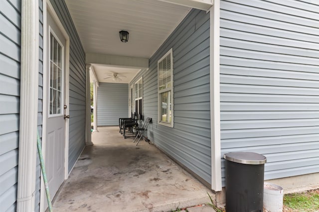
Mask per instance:
[[[111,67],[122,67],[132,69],[148,69],[149,59],[125,57],[117,55],[103,55],[87,53],[85,57],[86,64],[99,64]]]

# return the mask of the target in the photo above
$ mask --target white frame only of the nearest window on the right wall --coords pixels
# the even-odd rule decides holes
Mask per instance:
[[[159,84],[160,84],[160,77],[159,77],[159,64],[160,62],[167,57],[167,55],[170,54],[170,87],[169,88],[165,88],[165,89],[162,89],[160,90],[160,87],[159,87]],[[174,126],[174,104],[173,104],[173,96],[174,96],[174,93],[173,93],[173,49],[171,48],[170,50],[168,50],[168,52],[163,55],[160,60],[158,60],[158,123],[160,125],[163,125],[163,126],[166,126],[166,127],[173,127]],[[160,121],[160,108],[161,108],[161,102],[160,102],[160,94],[161,93],[164,93],[164,92],[167,92],[167,91],[170,91],[170,104],[171,104],[171,123],[169,122],[163,122],[163,121]]]

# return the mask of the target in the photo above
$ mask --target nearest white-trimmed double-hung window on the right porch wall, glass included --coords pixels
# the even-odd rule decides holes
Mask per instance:
[[[159,123],[173,127],[173,50],[158,61]]]

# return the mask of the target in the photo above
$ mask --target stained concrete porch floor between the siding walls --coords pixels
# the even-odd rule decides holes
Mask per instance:
[[[215,199],[154,145],[136,146],[118,127],[98,131],[56,196],[55,212],[170,212],[209,202],[207,191]]]

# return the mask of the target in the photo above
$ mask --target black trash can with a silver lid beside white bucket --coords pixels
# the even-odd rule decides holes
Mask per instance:
[[[226,159],[226,212],[263,212],[266,157],[230,152]]]

